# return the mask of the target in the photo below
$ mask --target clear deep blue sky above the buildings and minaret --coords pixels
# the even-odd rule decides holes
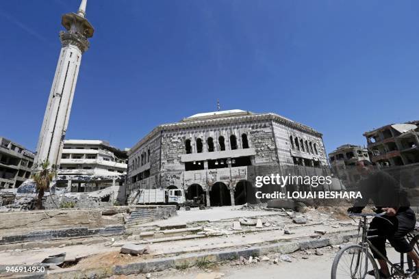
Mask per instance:
[[[0,2],[0,135],[35,150],[79,0]],[[327,151],[419,119],[419,1],[88,0],[67,138],[133,146],[199,112],[275,112]]]

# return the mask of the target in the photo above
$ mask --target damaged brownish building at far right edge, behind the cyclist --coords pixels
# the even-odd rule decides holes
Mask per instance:
[[[371,161],[381,167],[419,163],[419,120],[364,133]]]

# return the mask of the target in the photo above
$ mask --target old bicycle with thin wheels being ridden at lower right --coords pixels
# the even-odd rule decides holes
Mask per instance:
[[[385,261],[390,265],[390,278],[393,279],[405,279],[405,278],[412,278],[412,279],[419,279],[419,276],[416,276],[416,272],[413,272],[414,264],[411,258],[406,254],[407,258],[407,267],[410,271],[405,271],[405,254],[401,253],[400,263],[392,263],[388,258],[383,256],[377,250],[377,248],[372,245],[370,239],[374,237],[378,237],[377,235],[367,235],[367,233],[376,231],[376,230],[368,230],[368,217],[381,217],[383,218],[385,213],[373,214],[373,213],[351,213],[349,216],[357,216],[361,217],[359,219],[358,224],[358,236],[357,241],[359,241],[359,237],[361,237],[361,241],[359,244],[351,244],[347,245],[346,247],[342,248],[338,254],[336,254],[335,259],[333,261],[332,269],[331,269],[331,279],[338,279],[338,278],[351,278],[351,279],[364,279],[368,276],[367,272],[371,269],[374,271],[374,276],[368,276],[368,278],[376,278],[379,279],[379,268],[377,266],[376,261],[372,257],[372,254],[369,252],[368,248],[377,252],[379,256],[385,258]],[[383,218],[385,219],[385,218]],[[387,219],[385,219],[387,220]],[[389,220],[387,220],[390,222]],[[390,222],[391,223],[391,222]],[[414,248],[416,254],[419,255],[419,234],[416,235],[414,232],[407,234],[407,241],[409,244]]]

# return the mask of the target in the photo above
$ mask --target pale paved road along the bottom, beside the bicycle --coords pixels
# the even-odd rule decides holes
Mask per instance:
[[[328,279],[331,274],[333,258],[338,250],[325,252],[322,256],[310,255],[308,259],[303,259],[303,254],[294,253],[292,263],[279,263],[273,265],[269,263],[257,263],[242,267],[232,267],[223,265],[213,267],[212,271],[204,272],[201,269],[190,269],[188,271],[173,271],[176,274],[164,273],[162,276],[152,278],[165,279],[214,279],[216,274],[224,274],[221,278],[228,279]],[[394,250],[388,249],[390,260],[396,260],[399,256]],[[213,276],[214,275],[214,276]],[[373,278],[368,276],[368,278]]]

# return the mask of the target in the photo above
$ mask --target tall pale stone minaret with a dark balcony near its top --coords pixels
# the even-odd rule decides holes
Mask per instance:
[[[86,2],[81,0],[77,14],[72,12],[62,16],[61,24],[66,31],[60,31],[62,48],[36,147],[35,170],[46,160],[50,167],[58,167],[60,164],[81,55],[87,51],[87,38],[91,38],[94,31],[85,18]]]

